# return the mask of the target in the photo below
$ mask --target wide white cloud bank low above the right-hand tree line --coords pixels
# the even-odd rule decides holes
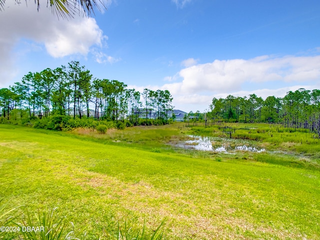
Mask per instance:
[[[247,60],[214,60],[183,68],[173,76],[165,76],[163,80],[168,82],[162,86],[134,88],[140,91],[145,87],[167,89],[173,96],[175,108],[203,111],[209,107],[213,97],[224,98],[229,94],[248,96],[252,93],[262,98],[270,95],[283,97],[286,92],[298,88],[319,89],[320,55],[264,55]]]

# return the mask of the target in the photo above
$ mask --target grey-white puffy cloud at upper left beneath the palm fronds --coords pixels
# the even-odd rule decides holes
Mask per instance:
[[[43,44],[52,57],[86,55],[91,46],[102,47],[107,39],[94,18],[74,16],[58,19],[45,5],[37,12],[32,2],[5,2],[0,12],[0,78],[9,81],[15,68],[13,49],[20,39]],[[4,24],[5,23],[5,24]]]

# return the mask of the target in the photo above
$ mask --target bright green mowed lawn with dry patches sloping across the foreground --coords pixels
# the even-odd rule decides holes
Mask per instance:
[[[57,206],[86,239],[124,221],[152,233],[163,219],[165,239],[320,239],[316,169],[92,139],[0,125],[0,198],[18,211]]]

